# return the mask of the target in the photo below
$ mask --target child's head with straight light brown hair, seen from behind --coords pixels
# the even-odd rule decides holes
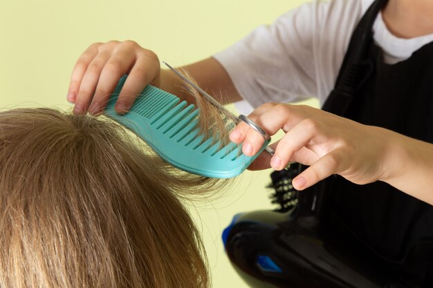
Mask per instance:
[[[0,286],[206,287],[178,200],[203,181],[174,175],[111,122],[0,113]]]

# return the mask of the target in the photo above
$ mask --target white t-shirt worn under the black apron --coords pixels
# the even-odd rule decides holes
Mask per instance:
[[[238,102],[237,108],[249,113],[266,102],[297,102],[312,96],[324,104],[353,30],[373,1],[313,0],[214,55],[246,100]],[[412,39],[395,37],[380,13],[373,32],[389,64],[409,58],[433,41],[433,34]]]

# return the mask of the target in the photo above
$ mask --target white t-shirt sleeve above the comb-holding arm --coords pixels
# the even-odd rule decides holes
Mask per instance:
[[[315,95],[311,3],[214,55],[252,106]]]

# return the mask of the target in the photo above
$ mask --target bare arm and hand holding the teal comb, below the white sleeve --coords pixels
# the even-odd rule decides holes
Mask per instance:
[[[208,58],[183,68],[201,88],[214,93],[220,102],[225,104],[241,99],[228,73],[215,59]],[[129,77],[116,103],[118,113],[129,111],[136,96],[147,84],[167,90],[182,99],[192,100],[182,91],[179,79],[169,71],[160,69],[159,59],[154,52],[133,41],[110,41],[92,44],[77,60],[67,96],[68,101],[75,104],[74,113],[89,111],[93,115],[100,114],[120,77],[125,74]]]

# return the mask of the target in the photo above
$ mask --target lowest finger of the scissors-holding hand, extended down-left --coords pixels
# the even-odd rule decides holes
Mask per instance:
[[[320,180],[324,180],[326,177],[339,173],[342,170],[341,166],[343,166],[342,160],[344,160],[344,157],[338,150],[324,155],[293,179],[293,187],[297,190],[303,190]]]

